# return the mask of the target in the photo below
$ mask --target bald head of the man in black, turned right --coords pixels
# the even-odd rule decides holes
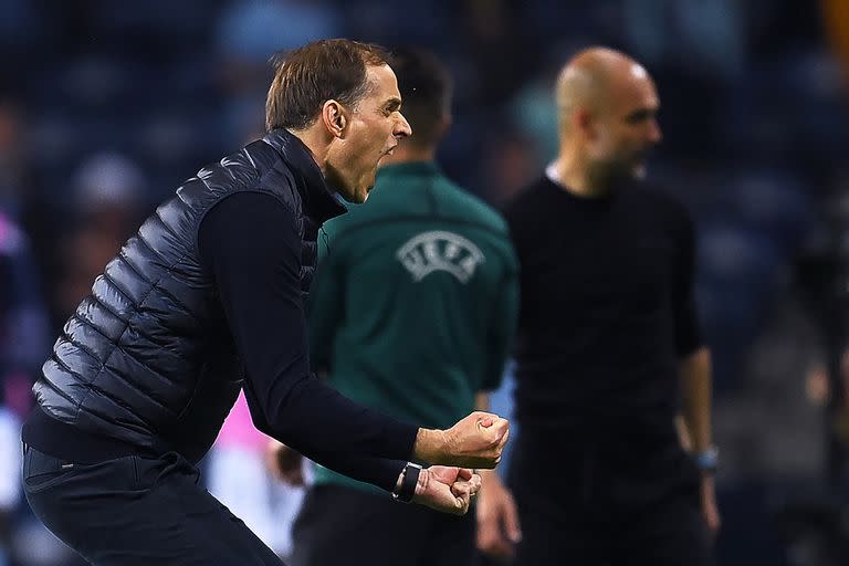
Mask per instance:
[[[642,65],[611,49],[581,51],[560,71],[555,97],[562,156],[601,177],[643,174],[661,134],[660,102]]]

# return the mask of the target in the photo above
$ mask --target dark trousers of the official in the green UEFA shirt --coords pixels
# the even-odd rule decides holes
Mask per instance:
[[[295,520],[292,566],[472,566],[474,510],[462,517],[356,488],[317,485]]]

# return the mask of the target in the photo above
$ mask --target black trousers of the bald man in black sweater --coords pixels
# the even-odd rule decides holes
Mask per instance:
[[[713,564],[699,474],[677,441],[608,449],[574,439],[560,451],[538,440],[551,438],[523,430],[512,454],[515,566]]]

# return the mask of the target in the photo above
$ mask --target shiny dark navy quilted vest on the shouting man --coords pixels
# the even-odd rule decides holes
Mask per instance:
[[[200,262],[198,228],[217,202],[240,191],[272,195],[295,211],[306,298],[318,229],[345,208],[306,146],[274,130],[186,181],[106,265],[33,387],[42,410],[143,450],[176,450],[192,461],[207,452],[243,369]]]

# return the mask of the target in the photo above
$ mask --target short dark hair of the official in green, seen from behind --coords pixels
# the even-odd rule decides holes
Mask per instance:
[[[389,64],[398,77],[401,113],[412,128],[412,137],[405,143],[436,146],[442,123],[451,115],[451,75],[433,53],[417,48],[392,49]]]

